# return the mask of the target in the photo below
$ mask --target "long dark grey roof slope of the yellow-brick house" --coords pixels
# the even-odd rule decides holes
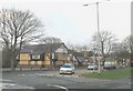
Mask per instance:
[[[49,44],[30,44],[24,46],[20,53],[44,53],[44,52],[54,52],[58,48],[60,48],[64,43],[49,43]]]

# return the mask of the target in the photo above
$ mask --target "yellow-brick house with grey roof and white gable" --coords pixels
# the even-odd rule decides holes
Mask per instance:
[[[64,43],[24,46],[19,53],[19,67],[50,68],[72,62]]]

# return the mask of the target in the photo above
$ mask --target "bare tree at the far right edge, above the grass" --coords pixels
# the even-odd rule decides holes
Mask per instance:
[[[133,49],[133,39],[131,38],[131,36],[129,36],[122,42],[116,42],[112,47],[111,55],[120,61],[122,61],[123,59],[130,59],[132,58],[131,55],[132,49]]]

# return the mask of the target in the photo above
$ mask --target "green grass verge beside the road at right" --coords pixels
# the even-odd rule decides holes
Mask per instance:
[[[101,71],[100,74],[98,72],[84,73],[82,74],[82,77],[94,78],[94,79],[106,79],[106,80],[122,79],[122,78],[131,77],[131,68],[124,67],[122,69],[116,69],[116,70]]]

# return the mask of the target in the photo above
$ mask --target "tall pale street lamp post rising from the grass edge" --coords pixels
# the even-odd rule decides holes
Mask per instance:
[[[110,1],[110,0],[105,0]],[[103,2],[103,1],[102,1]],[[96,16],[98,16],[98,61],[99,61],[99,74],[101,73],[101,63],[100,63],[100,19],[99,19],[99,4],[102,2],[94,2],[94,3],[86,3],[83,4],[84,7],[88,7],[89,4],[96,4]]]

